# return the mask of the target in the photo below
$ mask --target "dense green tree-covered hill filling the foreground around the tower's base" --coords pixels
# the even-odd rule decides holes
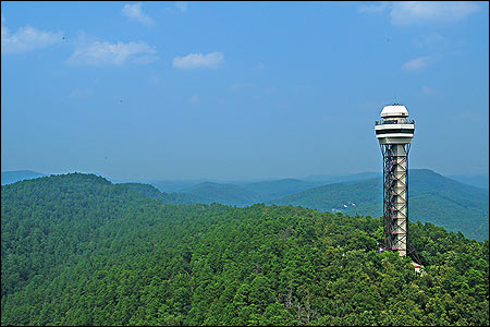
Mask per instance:
[[[1,203],[2,325],[489,324],[488,240],[430,223],[411,223],[418,274],[377,253],[379,219],[169,205],[79,173]]]

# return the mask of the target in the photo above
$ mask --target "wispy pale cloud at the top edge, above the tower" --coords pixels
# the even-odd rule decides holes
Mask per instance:
[[[466,19],[478,10],[479,5],[470,1],[400,1],[357,7],[358,12],[368,14],[389,11],[391,23],[395,26],[453,23]]]

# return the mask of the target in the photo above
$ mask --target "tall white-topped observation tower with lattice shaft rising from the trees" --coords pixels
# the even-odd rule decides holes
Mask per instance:
[[[375,124],[383,155],[383,233],[384,250],[405,256],[408,250],[408,152],[415,121],[405,106],[384,106]]]

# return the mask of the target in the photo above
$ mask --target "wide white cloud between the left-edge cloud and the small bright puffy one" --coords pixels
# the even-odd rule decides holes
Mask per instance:
[[[157,53],[157,50],[143,41],[110,44],[96,40],[78,46],[68,62],[82,65],[122,65],[126,62],[149,63],[157,59],[155,53]]]

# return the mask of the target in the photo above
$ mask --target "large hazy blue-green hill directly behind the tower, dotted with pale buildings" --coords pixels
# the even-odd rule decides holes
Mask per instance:
[[[432,222],[468,238],[488,239],[489,193],[428,169],[409,171],[409,219]],[[334,183],[266,202],[347,215],[382,215],[382,181]]]

